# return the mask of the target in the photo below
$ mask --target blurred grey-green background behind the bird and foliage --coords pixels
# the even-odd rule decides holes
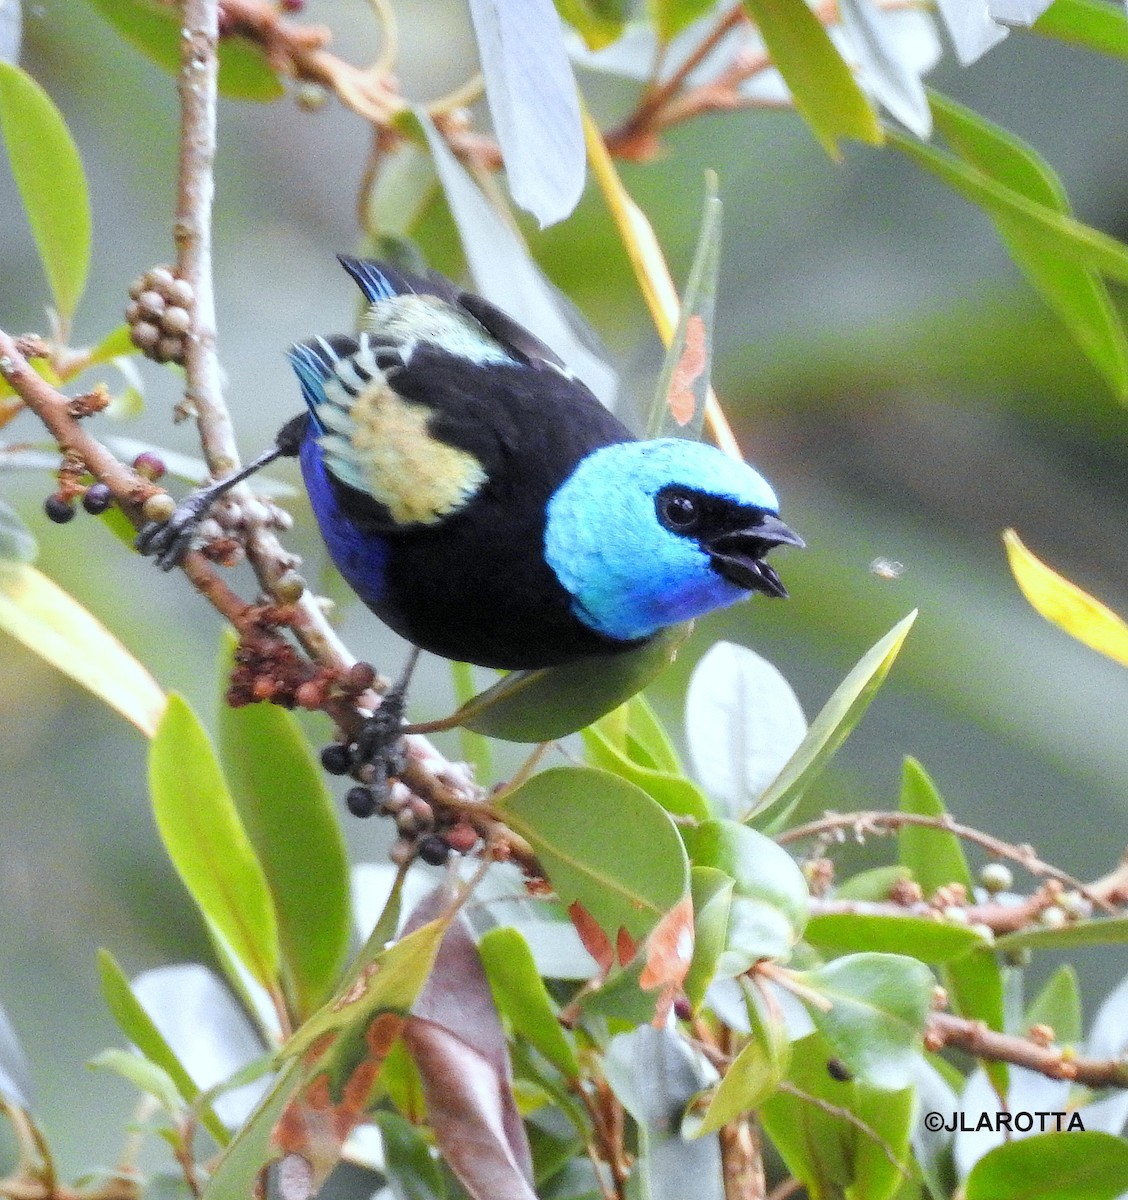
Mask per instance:
[[[473,61],[461,0],[396,8],[406,91],[427,100],[458,83]],[[338,31],[354,61],[371,54],[362,0],[310,0],[306,12]],[[91,182],[95,260],[76,342],[94,342],[119,322],[130,281],[172,256],[174,85],[82,0],[25,4],[24,19],[23,62],[62,109]],[[970,70],[946,58],[930,82],[1031,140],[1082,220],[1128,236],[1123,64],[1016,34]],[[625,110],[625,85],[587,83],[604,118]],[[284,347],[353,322],[353,288],[332,254],[358,245],[368,133],[332,103],[307,113],[287,98],[223,103],[221,139],[220,348],[250,455],[299,404]],[[720,174],[715,382],[749,458],[810,546],[780,558],[788,604],[754,601],[702,622],[655,698],[677,730],[692,662],[725,637],[770,658],[814,715],[853,661],[919,607],[890,680],[811,806],[894,804],[901,757],[913,754],[960,820],[1031,841],[1078,876],[1099,875],[1128,841],[1128,674],[1026,607],[1000,534],[1016,527],[1128,612],[1128,413],[979,212],[894,151],[846,149],[835,164],[794,116],[744,114],[677,130],[659,162],[623,168],[678,276],[702,172]],[[530,238],[611,346],[628,390],[646,394],[660,355],[598,196]],[[46,296],[0,167],[0,325],[43,330]],[[192,428],[169,420],[175,377],[142,370],[148,409],[112,432],[196,452]],[[41,438],[29,418],[4,432]],[[184,580],[131,557],[90,518],[49,526],[44,474],[10,473],[2,488],[41,538],[41,568],[164,688],[214,712],[218,622]],[[324,558],[305,502],[292,508],[312,577]],[[904,564],[902,575],[880,577],[877,558]],[[402,649],[355,605],[343,632],[361,656],[397,670]],[[444,665],[427,665],[414,698],[420,716],[450,704]],[[319,740],[329,733],[317,719],[311,728]],[[446,746],[457,754],[456,742]],[[364,859],[380,854],[386,835],[349,822],[348,836]],[[101,944],[131,972],[208,954],[149,816],[142,737],[0,638],[0,1003],[67,1171],[112,1159],[131,1102],[125,1084],[83,1069],[118,1040],[96,988]],[[1075,961],[1090,1010],[1128,968],[1128,955],[1110,949]]]

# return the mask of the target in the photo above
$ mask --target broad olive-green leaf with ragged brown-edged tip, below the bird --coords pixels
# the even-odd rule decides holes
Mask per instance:
[[[497,804],[532,845],[568,906],[599,926],[644,937],[685,895],[685,847],[667,814],[634,784],[592,767],[553,767]]]

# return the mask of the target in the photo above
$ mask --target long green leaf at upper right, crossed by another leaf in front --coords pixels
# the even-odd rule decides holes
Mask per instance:
[[[1052,168],[1031,146],[937,92],[936,128],[970,166],[1046,209],[1070,214]],[[1104,281],[1021,218],[991,214],[1010,257],[1069,329],[1117,396],[1128,397],[1128,337]]]

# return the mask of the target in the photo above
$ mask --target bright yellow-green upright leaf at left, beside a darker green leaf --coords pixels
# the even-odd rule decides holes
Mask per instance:
[[[192,899],[254,979],[276,992],[278,930],[266,877],[208,733],[175,695],[150,746],[149,787],[161,840]]]

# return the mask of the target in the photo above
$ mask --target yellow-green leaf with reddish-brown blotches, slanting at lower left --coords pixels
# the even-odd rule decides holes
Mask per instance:
[[[307,1194],[317,1190],[370,1103],[445,928],[431,922],[386,950],[365,946],[336,998],[287,1043],[287,1064],[220,1158],[204,1200],[253,1195],[262,1171],[290,1154],[306,1160]]]

